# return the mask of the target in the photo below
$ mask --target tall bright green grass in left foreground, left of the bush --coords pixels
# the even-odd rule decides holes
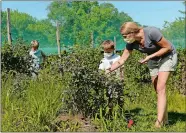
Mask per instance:
[[[2,131],[49,131],[62,106],[60,82],[52,77],[30,80],[21,86],[22,97],[12,91],[12,82],[11,76],[2,81]]]

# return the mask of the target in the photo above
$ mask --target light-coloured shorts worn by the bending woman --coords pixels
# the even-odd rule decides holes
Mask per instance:
[[[159,58],[158,60],[149,60],[148,68],[150,70],[150,75],[156,76],[158,75],[158,72],[175,71],[177,61],[177,53]]]

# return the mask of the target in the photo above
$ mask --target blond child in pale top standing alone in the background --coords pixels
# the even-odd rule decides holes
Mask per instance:
[[[32,76],[36,77],[38,75],[38,71],[41,68],[41,64],[45,61],[46,55],[43,51],[39,50],[39,42],[37,40],[31,41],[31,51],[29,55],[32,57]]]

